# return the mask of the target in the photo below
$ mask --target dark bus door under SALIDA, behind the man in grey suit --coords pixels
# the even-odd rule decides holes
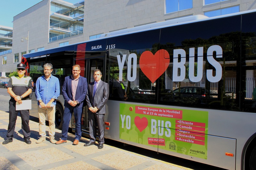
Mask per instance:
[[[86,57],[86,55],[85,55]],[[85,58],[86,63],[86,73],[85,78],[87,78],[87,83],[94,82],[93,74],[95,69],[101,70],[102,77],[101,80],[105,81],[105,70],[106,70],[106,52],[96,53],[95,55],[90,55],[90,57]],[[88,121],[88,107],[85,104],[82,116],[82,132],[88,134],[89,132],[89,121]],[[75,124],[73,124],[75,126]]]

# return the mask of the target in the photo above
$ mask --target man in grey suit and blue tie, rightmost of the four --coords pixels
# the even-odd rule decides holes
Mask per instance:
[[[103,148],[104,144],[104,116],[106,113],[106,103],[108,101],[109,88],[108,83],[101,81],[101,71],[94,70],[94,82],[89,84],[86,94],[86,103],[88,106],[88,118],[90,128],[90,141],[84,146],[95,144],[96,126],[98,126],[99,149]]]

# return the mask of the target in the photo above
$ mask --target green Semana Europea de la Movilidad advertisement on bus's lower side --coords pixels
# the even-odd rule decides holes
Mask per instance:
[[[120,103],[120,139],[207,159],[208,112]]]

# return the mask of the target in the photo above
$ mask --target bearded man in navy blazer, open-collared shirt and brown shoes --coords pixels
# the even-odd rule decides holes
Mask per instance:
[[[61,139],[55,144],[67,143],[68,126],[71,116],[74,112],[76,131],[75,141],[73,145],[77,145],[82,137],[81,118],[83,114],[84,99],[87,93],[87,79],[80,76],[80,65],[76,64],[72,67],[72,75],[65,77],[62,86],[62,95],[65,100],[63,123],[62,123],[62,136]]]

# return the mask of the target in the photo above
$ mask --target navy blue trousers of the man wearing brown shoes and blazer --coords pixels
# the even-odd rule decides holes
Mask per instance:
[[[83,107],[65,107],[64,113],[63,113],[63,123],[62,123],[62,140],[67,140],[68,137],[68,127],[69,122],[71,120],[72,114],[74,112],[75,122],[76,122],[76,130],[75,130],[75,139],[80,140],[82,137],[82,126],[81,126],[81,118],[83,114]]]

